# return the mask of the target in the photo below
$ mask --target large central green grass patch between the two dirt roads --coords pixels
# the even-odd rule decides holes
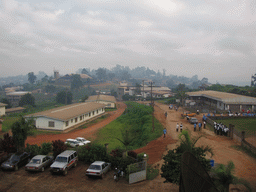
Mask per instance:
[[[160,137],[163,131],[162,124],[155,119],[155,131],[152,132],[151,112],[149,106],[129,102],[123,115],[97,132],[95,143],[108,143],[109,151],[126,147],[127,150],[134,150],[145,146]],[[124,146],[120,140],[128,141],[128,145]]]

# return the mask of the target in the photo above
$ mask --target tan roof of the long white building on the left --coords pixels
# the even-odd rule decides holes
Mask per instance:
[[[50,109],[47,111],[41,111],[38,113],[27,115],[26,117],[49,117],[53,119],[59,120],[69,120],[74,117],[78,117],[82,114],[89,113],[91,111],[95,111],[97,109],[101,109],[105,107],[104,104],[101,103],[74,103],[71,105],[66,105],[63,107],[58,107],[54,109]]]

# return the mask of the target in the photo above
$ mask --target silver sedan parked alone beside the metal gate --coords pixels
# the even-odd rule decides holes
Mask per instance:
[[[109,170],[111,170],[111,163],[106,163],[104,161],[95,161],[86,170],[86,175],[103,177]]]

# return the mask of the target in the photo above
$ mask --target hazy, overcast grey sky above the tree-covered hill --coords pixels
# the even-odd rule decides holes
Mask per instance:
[[[0,77],[117,64],[250,82],[256,0],[0,0]]]

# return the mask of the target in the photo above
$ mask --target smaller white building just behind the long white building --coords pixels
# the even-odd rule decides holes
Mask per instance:
[[[116,98],[111,95],[92,95],[89,96],[86,102],[96,102],[106,105],[106,108],[116,107]]]

